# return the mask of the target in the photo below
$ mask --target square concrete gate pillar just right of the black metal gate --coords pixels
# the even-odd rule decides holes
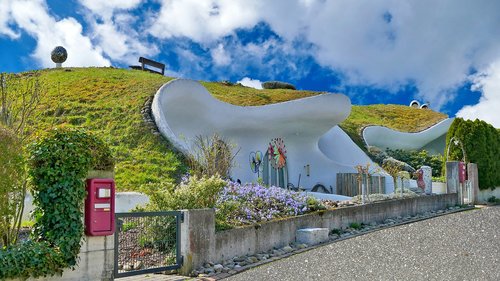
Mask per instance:
[[[183,210],[184,222],[181,224],[181,255],[184,263],[182,275],[210,261],[215,255],[215,210]]]

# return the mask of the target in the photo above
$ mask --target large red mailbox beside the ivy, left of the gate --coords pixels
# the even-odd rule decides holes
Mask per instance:
[[[88,179],[85,199],[85,233],[90,236],[115,232],[115,181]]]

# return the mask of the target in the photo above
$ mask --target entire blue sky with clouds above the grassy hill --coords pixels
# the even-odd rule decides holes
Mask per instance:
[[[500,1],[0,0],[0,72],[137,65],[270,80],[353,104],[412,100],[500,128]]]

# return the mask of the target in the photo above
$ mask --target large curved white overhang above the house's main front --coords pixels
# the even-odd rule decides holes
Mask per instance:
[[[178,79],[156,93],[152,112],[162,134],[180,149],[186,139],[214,132],[227,137],[257,135],[319,137],[345,120],[349,98],[322,94],[264,106],[236,106],[212,97],[193,80]]]

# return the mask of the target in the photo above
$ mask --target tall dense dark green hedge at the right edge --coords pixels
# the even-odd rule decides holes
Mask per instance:
[[[450,144],[452,137],[458,139],[465,150],[467,162],[477,164],[479,188],[494,189],[500,186],[500,132],[492,125],[476,119],[475,121],[456,118],[446,135],[446,149],[449,148],[447,161],[462,160],[460,145]],[[444,167],[443,167],[444,169]]]

